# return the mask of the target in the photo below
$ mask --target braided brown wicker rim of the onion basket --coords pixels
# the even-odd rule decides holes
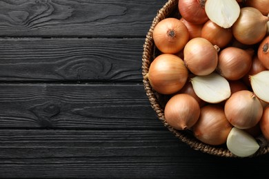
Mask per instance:
[[[159,23],[159,21],[165,19],[168,17],[171,12],[177,11],[178,7],[178,0],[168,0],[166,4],[157,12],[157,16],[152,21],[152,25],[150,27],[150,30],[148,31],[148,34],[146,35],[145,43],[143,44],[143,56],[142,56],[142,74],[143,74],[143,85],[146,90],[146,95],[148,96],[148,99],[150,101],[151,107],[155,110],[157,113],[157,116],[159,120],[163,123],[165,127],[169,129],[177,138],[179,138],[183,143],[186,143],[189,145],[192,149],[202,151],[206,154],[211,154],[214,156],[221,156],[226,158],[237,158],[237,156],[233,155],[226,147],[224,146],[212,146],[212,145],[206,145],[205,143],[201,143],[201,141],[197,140],[192,134],[188,134],[186,131],[179,131],[177,129],[172,128],[168,123],[166,123],[166,119],[164,117],[163,113],[163,106],[160,104],[159,96],[161,94],[158,94],[157,92],[152,89],[150,86],[150,83],[148,81],[148,78],[146,78],[146,74],[148,74],[148,70],[150,67],[150,63],[155,59],[155,44],[152,39],[152,32]],[[260,149],[252,156],[261,156],[263,154],[267,154],[269,152],[269,146],[268,143],[264,141],[263,138],[261,138],[261,143],[265,143],[264,145],[261,145]]]

